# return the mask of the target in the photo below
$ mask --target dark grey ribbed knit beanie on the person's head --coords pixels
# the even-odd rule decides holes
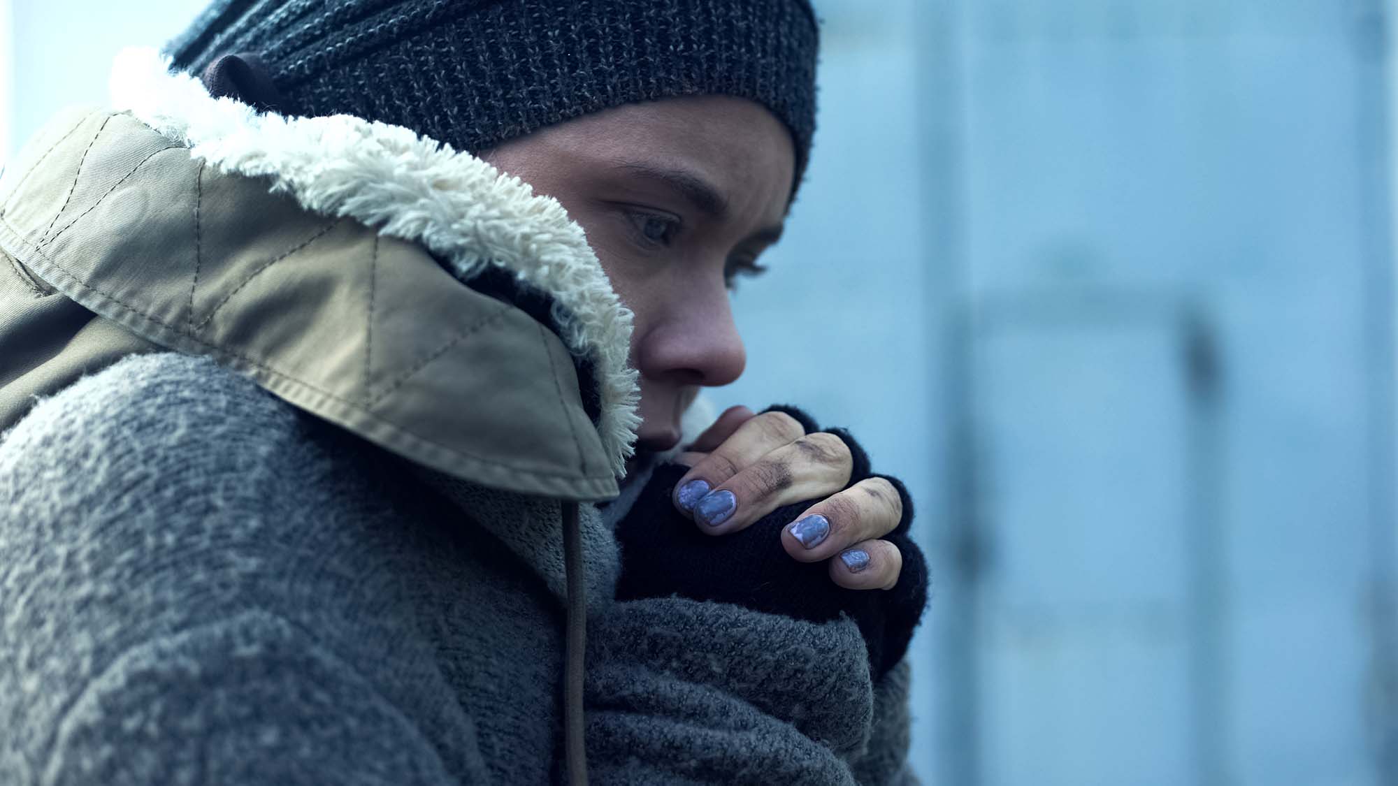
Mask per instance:
[[[292,115],[356,115],[480,152],[636,101],[720,94],[776,115],[801,182],[809,0],[215,0],[166,45],[199,73],[256,53]]]

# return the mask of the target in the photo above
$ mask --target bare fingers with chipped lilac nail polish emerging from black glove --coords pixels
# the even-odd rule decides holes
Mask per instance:
[[[786,552],[826,561],[842,587],[898,585],[903,554],[881,538],[903,522],[903,492],[870,477],[868,459],[847,434],[818,431],[798,410],[731,407],[677,462],[689,471],[672,502],[705,534],[735,533],[777,508],[818,499],[783,527]]]

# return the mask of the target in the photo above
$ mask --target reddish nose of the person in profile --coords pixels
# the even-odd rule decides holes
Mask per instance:
[[[635,344],[636,369],[649,379],[677,385],[727,385],[748,364],[742,337],[733,320],[733,305],[723,287],[691,290],[640,326]]]

